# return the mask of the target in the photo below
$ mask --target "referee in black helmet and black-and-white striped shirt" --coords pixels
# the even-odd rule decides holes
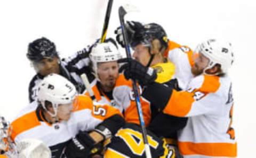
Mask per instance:
[[[60,59],[55,44],[44,37],[29,43],[27,58],[37,73],[29,83],[29,101],[36,100],[38,83],[51,73],[67,78],[76,86],[77,91],[82,93],[85,87],[80,75],[88,73],[89,80],[93,80],[93,75],[90,75],[90,69],[87,67],[87,57],[87,50],[83,49],[67,59]]]

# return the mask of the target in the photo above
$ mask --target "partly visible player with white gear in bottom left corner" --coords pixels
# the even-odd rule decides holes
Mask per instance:
[[[50,158],[51,151],[43,142],[35,139],[23,139],[17,145],[11,139],[12,128],[4,117],[0,116],[0,157],[1,158]]]

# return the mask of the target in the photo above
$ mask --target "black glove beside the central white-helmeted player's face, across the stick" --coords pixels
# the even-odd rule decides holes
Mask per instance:
[[[124,71],[126,80],[132,78],[137,80],[140,85],[147,85],[157,78],[156,71],[153,68],[143,66],[137,60],[124,58],[119,59],[118,63],[126,63],[119,68],[119,72]]]

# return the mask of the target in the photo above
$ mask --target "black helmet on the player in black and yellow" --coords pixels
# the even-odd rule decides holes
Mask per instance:
[[[164,29],[159,24],[149,23],[149,24],[145,24],[145,25],[143,25],[143,27],[140,27],[137,30],[135,30],[135,32],[131,38],[130,45],[132,47],[135,47],[139,43],[143,43],[144,45],[150,47],[151,42],[154,39],[158,39],[161,42],[162,47],[164,46],[167,48],[168,39],[167,39],[167,35],[166,35],[166,32],[164,31]]]

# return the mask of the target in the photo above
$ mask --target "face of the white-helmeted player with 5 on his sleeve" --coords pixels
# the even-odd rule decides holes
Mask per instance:
[[[73,110],[73,103],[69,104],[59,104],[57,117],[61,120],[69,120],[71,112]]]

